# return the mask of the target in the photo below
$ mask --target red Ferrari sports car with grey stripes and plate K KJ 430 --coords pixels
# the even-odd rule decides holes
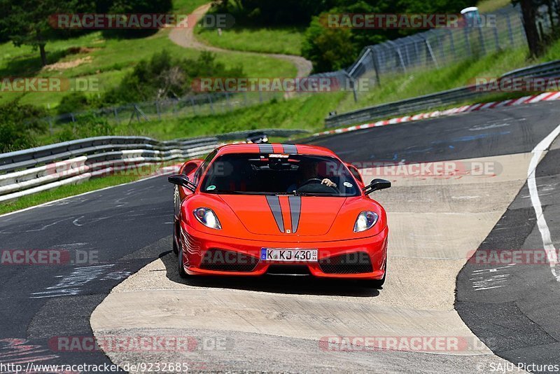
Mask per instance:
[[[356,167],[295,144],[232,144],[190,160],[174,183],[179,275],[386,277],[385,210]]]

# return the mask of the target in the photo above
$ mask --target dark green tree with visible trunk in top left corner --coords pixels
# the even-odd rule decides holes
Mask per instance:
[[[15,46],[38,48],[41,64],[47,64],[45,45],[56,31],[49,25],[49,16],[57,13],[77,13],[78,0],[0,0],[5,9],[0,21],[0,33],[5,33]]]

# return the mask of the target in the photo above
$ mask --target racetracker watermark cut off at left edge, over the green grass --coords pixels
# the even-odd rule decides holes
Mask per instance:
[[[98,92],[98,78],[4,77],[0,92]]]

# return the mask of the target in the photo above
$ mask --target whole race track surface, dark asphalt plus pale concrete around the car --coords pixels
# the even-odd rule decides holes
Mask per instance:
[[[384,373],[490,372],[503,359],[560,364],[554,268],[467,262],[475,250],[542,250],[527,171],[533,148],[559,124],[560,108],[544,102],[307,139],[355,162],[366,181],[379,173],[393,181],[373,195],[391,228],[380,290],[307,277],[180,279],[170,253],[172,187],[162,176],[1,216],[0,250],[64,249],[99,262],[3,261],[0,362]],[[550,149],[535,181],[558,248],[558,142]],[[387,175],[374,164],[450,160],[461,172],[449,178]],[[481,163],[492,172],[469,169]],[[188,336],[194,345],[101,352],[55,344],[93,335]],[[321,344],[329,336],[458,337],[466,346],[340,352]]]

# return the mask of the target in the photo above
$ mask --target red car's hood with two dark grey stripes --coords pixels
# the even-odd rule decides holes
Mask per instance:
[[[325,235],[346,198],[289,195],[220,195],[248,232]]]

